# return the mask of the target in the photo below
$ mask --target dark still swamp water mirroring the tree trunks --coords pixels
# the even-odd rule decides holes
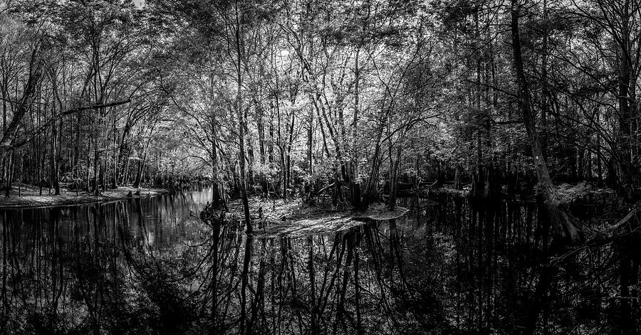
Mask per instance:
[[[0,334],[638,330],[633,246],[563,246],[531,204],[406,198],[400,220],[264,239],[200,221],[210,197],[0,211]]]

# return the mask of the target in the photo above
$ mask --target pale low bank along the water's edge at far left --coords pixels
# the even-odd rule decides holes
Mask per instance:
[[[131,193],[135,193],[140,189],[140,196],[127,196]],[[21,209],[21,208],[48,208],[48,207],[63,207],[63,206],[81,206],[89,205],[92,203],[108,203],[111,201],[120,201],[126,199],[136,199],[136,198],[151,198],[152,196],[162,196],[164,194],[171,193],[167,188],[132,188],[127,186],[121,186],[116,189],[110,189],[104,191],[100,196],[93,196],[92,194],[83,191],[79,192],[78,196],[75,195],[75,191],[63,190],[61,189],[61,195],[36,195],[30,194],[31,192],[28,188],[25,190],[24,195],[18,196],[14,191],[11,192],[11,196],[6,198],[0,196],[0,210],[6,209]]]

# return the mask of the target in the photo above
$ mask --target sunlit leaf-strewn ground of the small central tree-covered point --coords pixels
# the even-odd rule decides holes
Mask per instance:
[[[244,211],[241,201],[231,201],[225,222],[244,222]],[[345,230],[363,225],[365,222],[400,218],[410,211],[397,206],[390,211],[382,203],[375,203],[365,211],[334,208],[331,206],[310,206],[300,199],[292,201],[249,199],[249,213],[254,225],[256,237],[299,237],[317,235],[338,230]],[[218,216],[219,211],[204,213],[204,218]],[[202,216],[203,217],[203,216]]]

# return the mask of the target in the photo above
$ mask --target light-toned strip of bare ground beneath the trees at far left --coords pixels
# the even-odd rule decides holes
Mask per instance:
[[[9,198],[4,196],[4,192],[0,194],[0,208],[33,208],[100,203],[128,198],[127,195],[129,192],[134,194],[139,189],[140,196],[133,195],[132,198],[159,196],[170,192],[164,188],[133,188],[121,186],[119,188],[103,191],[100,193],[100,196],[94,196],[87,191],[78,191],[78,193],[76,193],[75,190],[68,190],[61,187],[61,194],[56,196],[53,195],[53,189],[51,190],[51,193],[49,193],[48,188],[42,188],[42,195],[40,195],[40,188],[38,188],[38,186],[14,184],[14,188],[11,190]]]

